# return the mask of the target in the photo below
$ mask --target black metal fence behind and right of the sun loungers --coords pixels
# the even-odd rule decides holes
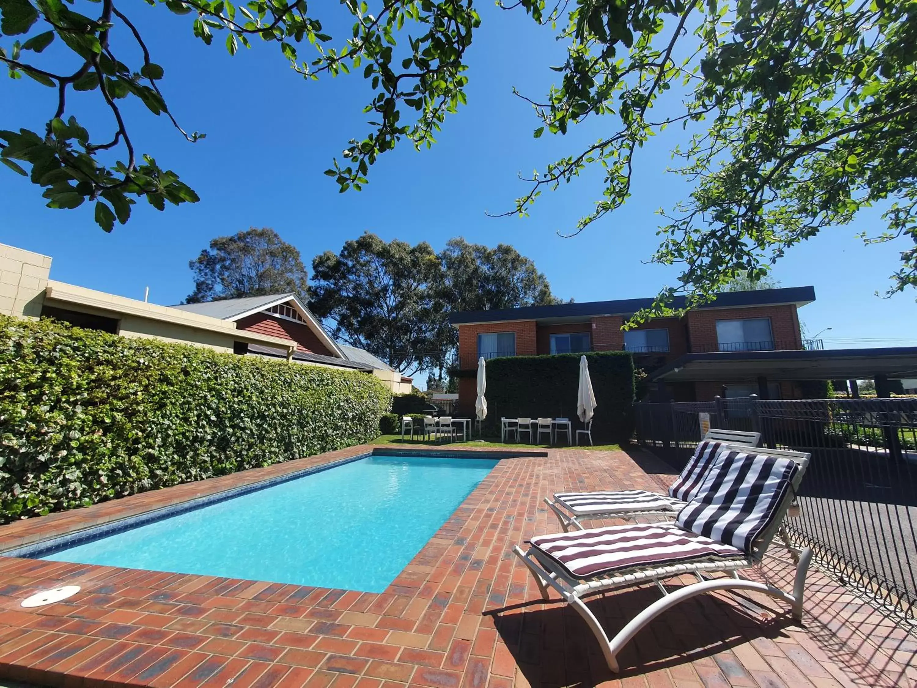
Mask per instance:
[[[917,399],[638,404],[636,438],[681,468],[709,427],[812,454],[793,538],[823,567],[917,623]]]

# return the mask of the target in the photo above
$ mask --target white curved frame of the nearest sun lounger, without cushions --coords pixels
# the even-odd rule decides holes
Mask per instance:
[[[765,452],[761,452],[762,454]],[[784,538],[784,544],[793,554],[793,560],[796,563],[796,575],[793,581],[793,590],[788,593],[784,590],[768,585],[768,583],[758,583],[746,578],[740,578],[738,571],[751,566],[756,566],[761,562],[771,540],[780,530],[782,531],[783,518],[787,515],[790,505],[796,491],[799,489],[802,476],[809,463],[809,454],[801,454],[797,451],[780,451],[768,449],[769,455],[790,456],[800,463],[800,471],[797,472],[793,480],[793,489],[786,495],[780,504],[773,524],[757,538],[752,546],[752,555],[746,559],[740,560],[709,560],[694,563],[674,564],[663,566],[655,569],[631,569],[628,571],[616,571],[611,578],[588,578],[577,579],[571,577],[567,571],[550,557],[543,554],[535,547],[524,551],[518,545],[513,548],[514,554],[519,557],[525,564],[538,585],[538,590],[544,599],[549,599],[548,588],[554,588],[561,597],[572,606],[582,616],[590,630],[599,641],[602,647],[602,654],[605,661],[608,662],[608,668],[617,673],[620,671],[618,666],[618,652],[630,642],[631,639],[650,621],[665,612],[667,609],[678,605],[685,600],[696,597],[699,594],[713,593],[717,590],[750,590],[758,593],[768,594],[790,605],[792,616],[797,621],[802,619],[802,601],[805,594],[805,579],[809,572],[809,564],[812,561],[812,549],[798,549],[792,547],[789,538]],[[785,534],[784,534],[785,535]],[[728,578],[706,578],[703,574],[713,572],[729,573]],[[693,573],[697,583],[690,583],[680,587],[675,592],[668,592],[662,581],[673,576],[679,576],[685,573]],[[597,593],[605,593],[621,587],[629,587],[641,583],[655,583],[657,588],[662,591],[663,596],[649,605],[640,614],[628,622],[624,628],[619,630],[611,639],[605,633],[599,619],[592,614],[591,609],[582,601],[582,598]]]

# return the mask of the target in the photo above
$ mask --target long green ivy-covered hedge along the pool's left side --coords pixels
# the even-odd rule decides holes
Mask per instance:
[[[371,375],[0,316],[0,522],[369,441]]]

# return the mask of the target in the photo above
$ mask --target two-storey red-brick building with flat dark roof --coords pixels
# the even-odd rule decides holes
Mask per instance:
[[[802,338],[797,314],[800,306],[814,300],[811,286],[729,292],[685,316],[659,318],[627,331],[621,329],[624,322],[653,299],[457,313],[449,321],[458,328],[458,407],[467,411],[474,405],[475,381],[470,372],[481,357],[626,350],[633,353],[638,368],[651,372],[686,353],[820,349],[820,341]],[[684,305],[683,297],[674,305]],[[678,401],[752,393],[795,398],[799,389],[791,382],[761,389],[749,373],[744,381],[662,383],[653,391],[657,398]]]

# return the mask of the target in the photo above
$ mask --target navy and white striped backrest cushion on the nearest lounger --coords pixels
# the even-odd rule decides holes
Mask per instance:
[[[750,552],[767,528],[799,470],[783,457],[724,450],[697,499],[675,521],[691,532]]]

